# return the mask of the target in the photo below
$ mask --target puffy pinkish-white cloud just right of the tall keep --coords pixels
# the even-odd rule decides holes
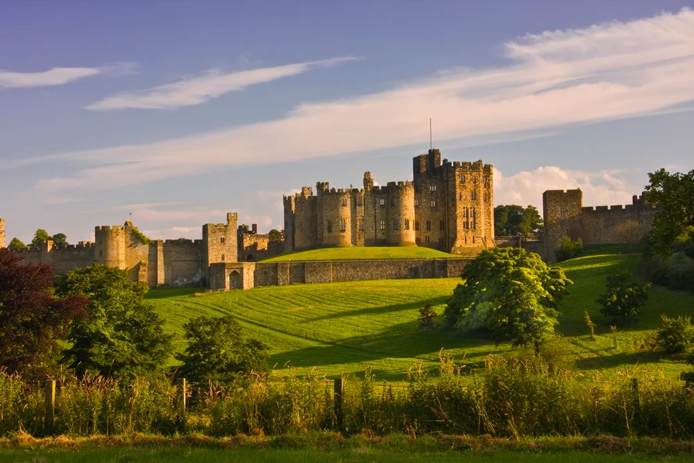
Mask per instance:
[[[643,185],[629,185],[618,171],[573,171],[559,167],[538,167],[504,176],[494,169],[494,203],[534,205],[542,214],[542,194],[545,190],[575,190],[583,192],[583,204],[631,204],[634,194],[641,194]]]

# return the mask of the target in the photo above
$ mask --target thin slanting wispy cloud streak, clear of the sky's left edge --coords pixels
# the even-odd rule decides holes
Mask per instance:
[[[246,71],[222,72],[211,69],[203,76],[185,79],[138,92],[123,92],[97,101],[87,109],[112,111],[123,109],[172,109],[194,106],[229,92],[238,92],[251,85],[297,76],[314,67],[328,67],[356,58],[300,62],[292,65],[262,67]]]

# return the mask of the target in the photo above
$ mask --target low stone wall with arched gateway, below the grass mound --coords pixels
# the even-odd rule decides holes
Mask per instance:
[[[210,288],[232,289],[235,280],[237,282],[243,281],[243,289],[249,289],[251,287],[301,283],[337,283],[403,278],[459,278],[468,262],[470,262],[469,259],[448,258],[219,263],[210,266]],[[241,288],[237,287],[236,289]]]

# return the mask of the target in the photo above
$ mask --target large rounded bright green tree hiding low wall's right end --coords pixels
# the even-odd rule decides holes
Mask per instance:
[[[562,269],[548,267],[539,255],[510,247],[482,251],[462,278],[444,311],[448,325],[486,328],[497,343],[532,344],[536,353],[554,332],[557,303],[571,284]]]

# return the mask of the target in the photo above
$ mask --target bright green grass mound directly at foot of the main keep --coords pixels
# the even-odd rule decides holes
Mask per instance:
[[[463,255],[444,253],[418,246],[355,246],[352,248],[323,248],[286,253],[262,262],[287,260],[355,260],[355,259],[424,259],[461,258]]]

